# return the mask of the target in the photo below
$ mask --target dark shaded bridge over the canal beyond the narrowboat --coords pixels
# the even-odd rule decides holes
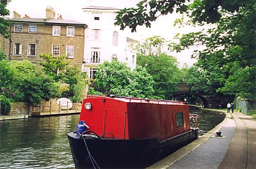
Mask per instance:
[[[189,99],[190,100],[189,100]],[[220,99],[210,99],[207,98],[204,91],[198,92],[198,94],[191,94],[191,90],[189,86],[184,83],[178,84],[178,91],[175,93],[174,98],[177,100],[184,100],[192,101],[193,104],[202,105],[205,108],[220,108]]]

